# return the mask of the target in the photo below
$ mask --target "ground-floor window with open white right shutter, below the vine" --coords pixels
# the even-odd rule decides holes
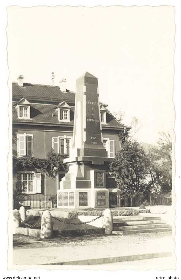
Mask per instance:
[[[41,173],[21,173],[23,192],[41,193]]]

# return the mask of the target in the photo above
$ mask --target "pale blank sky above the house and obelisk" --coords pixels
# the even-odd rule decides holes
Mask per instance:
[[[154,144],[174,125],[174,7],[8,7],[9,84],[59,86],[75,91],[88,71],[98,78],[100,101],[123,111],[135,135]]]

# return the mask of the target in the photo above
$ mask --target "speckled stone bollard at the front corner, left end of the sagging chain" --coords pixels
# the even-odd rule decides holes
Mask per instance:
[[[53,223],[50,211],[46,210],[41,218],[41,239],[50,238],[53,236]]]

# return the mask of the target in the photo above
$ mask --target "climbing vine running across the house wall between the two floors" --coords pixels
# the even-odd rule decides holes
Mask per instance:
[[[67,170],[67,165],[63,163],[63,159],[67,157],[68,155],[56,154],[53,150],[47,154],[47,158],[13,157],[13,170],[36,168],[53,176],[54,167],[56,171]]]

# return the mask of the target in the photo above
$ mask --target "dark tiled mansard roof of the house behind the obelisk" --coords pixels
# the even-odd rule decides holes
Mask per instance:
[[[31,102],[31,119],[18,119],[17,110],[15,106],[13,106],[13,122],[42,125],[66,125],[67,127],[73,127],[75,108],[74,92],[61,92],[60,88],[56,86],[23,83],[23,87],[19,87],[17,83],[13,83],[13,105],[20,102],[20,100]],[[68,106],[68,108],[70,108],[70,122],[65,123],[58,121],[58,111],[55,110],[55,108],[61,106]],[[102,106],[104,108],[107,107],[104,103],[101,103],[101,108]],[[127,129],[130,129],[130,127],[118,122],[107,109],[106,113],[107,123],[102,124],[103,128],[124,129],[126,127]]]

